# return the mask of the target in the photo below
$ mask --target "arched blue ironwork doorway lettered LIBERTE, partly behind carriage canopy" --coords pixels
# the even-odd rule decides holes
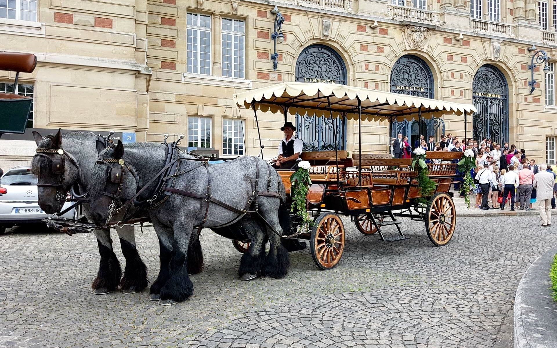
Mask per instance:
[[[346,84],[346,66],[333,48],[308,46],[296,61],[296,82]],[[346,148],[346,122],[340,117],[296,115],[297,137],[304,140],[304,151],[326,151]]]

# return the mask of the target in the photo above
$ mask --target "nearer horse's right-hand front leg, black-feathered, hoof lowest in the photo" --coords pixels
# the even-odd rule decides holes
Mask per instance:
[[[188,276],[188,244],[193,224],[184,219],[174,224],[174,242],[170,259],[170,277],[160,289],[159,304],[174,305],[188,299],[193,294],[193,284]]]

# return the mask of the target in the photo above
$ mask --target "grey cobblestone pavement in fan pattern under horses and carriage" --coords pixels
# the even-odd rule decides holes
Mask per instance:
[[[170,307],[147,291],[92,295],[94,236],[14,228],[0,236],[0,346],[506,347],[517,284],[557,243],[557,228],[533,216],[460,218],[445,247],[408,219],[411,239],[395,243],[344,222],[336,268],[319,271],[299,251],[289,276],[273,281],[238,281],[240,254],[206,231],[194,296]],[[137,238],[153,281],[157,238],[149,228]]]

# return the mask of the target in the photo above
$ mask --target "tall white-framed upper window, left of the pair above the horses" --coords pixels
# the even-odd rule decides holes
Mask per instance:
[[[193,14],[194,16],[196,16],[197,25],[188,24],[188,19],[189,19],[190,14]],[[211,75],[213,75],[213,17],[210,14],[203,14],[203,13],[196,13],[196,12],[186,12],[185,16],[186,16],[186,19],[185,19],[185,23],[186,23],[186,26],[185,26],[185,45],[186,45],[185,46],[185,71],[187,73],[195,73],[195,74],[198,74],[198,75],[211,76]],[[208,17],[209,18],[209,27],[208,28],[207,27],[202,27],[200,25],[200,19],[202,17]],[[194,31],[194,30],[197,31],[197,35],[195,36],[196,40],[197,40],[197,43],[196,43],[197,51],[189,50],[189,45],[190,45],[189,31],[190,30],[191,31]],[[209,60],[208,60],[209,66],[208,67],[202,67],[201,66],[201,61],[202,60],[201,60],[201,49],[200,49],[200,47],[201,47],[201,40],[202,40],[202,37],[201,37],[202,32],[209,33],[209,46],[208,46],[209,47],[209,53],[208,53],[209,54]],[[192,37],[193,37],[193,35],[192,35]],[[190,52],[196,52],[196,57],[190,57],[189,56]],[[196,60],[197,65],[193,65],[193,62],[190,65],[189,64],[190,59]],[[192,71],[190,71],[190,67],[196,67],[197,71],[193,71],[193,68],[192,68]],[[203,69],[208,69],[209,72],[208,73],[207,72],[201,72],[202,68]]]

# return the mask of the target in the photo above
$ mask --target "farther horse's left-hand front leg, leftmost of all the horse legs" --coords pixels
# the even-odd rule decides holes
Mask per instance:
[[[99,264],[99,272],[93,281],[91,287],[96,295],[103,295],[116,290],[122,276],[120,262],[112,248],[112,239],[110,239],[110,229],[95,229],[93,231],[97,237],[99,245],[99,254],[101,261]]]

